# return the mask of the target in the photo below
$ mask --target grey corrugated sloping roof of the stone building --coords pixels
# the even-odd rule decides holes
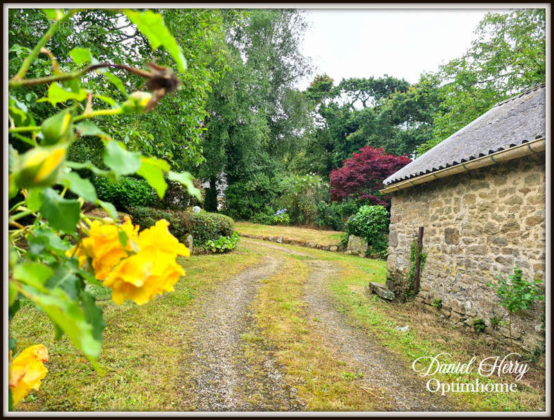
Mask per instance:
[[[546,85],[494,105],[384,180],[386,186],[546,137]]]

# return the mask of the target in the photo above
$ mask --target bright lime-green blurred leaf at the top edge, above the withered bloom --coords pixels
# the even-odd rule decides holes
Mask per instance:
[[[166,24],[163,23],[163,16],[152,12],[152,10],[145,10],[144,12],[136,12],[134,10],[123,10],[125,15],[132,23],[143,33],[150,42],[150,46],[155,50],[159,46],[163,45],[168,50],[168,53],[172,56],[173,60],[177,62],[177,69],[181,73],[186,71],[186,59],[181,51],[181,47],[175,41],[175,38],[171,35]]]

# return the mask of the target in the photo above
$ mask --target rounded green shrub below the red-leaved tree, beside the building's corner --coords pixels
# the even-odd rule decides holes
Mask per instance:
[[[362,206],[344,225],[349,235],[356,235],[368,241],[368,254],[386,257],[388,247],[388,212],[383,206]]]

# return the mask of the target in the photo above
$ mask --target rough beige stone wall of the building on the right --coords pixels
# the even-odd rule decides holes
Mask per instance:
[[[397,289],[405,279],[411,243],[423,226],[427,263],[415,299],[441,299],[440,313],[454,324],[471,326],[480,318],[487,333],[505,340],[508,313],[486,285],[499,274],[512,274],[515,265],[525,279],[544,279],[545,184],[542,154],[391,193],[387,285]],[[525,349],[544,339],[542,307],[537,303],[512,320],[512,335]],[[493,328],[493,317],[506,325]]]

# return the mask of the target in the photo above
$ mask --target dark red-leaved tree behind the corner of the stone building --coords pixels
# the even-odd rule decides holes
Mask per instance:
[[[331,201],[353,198],[363,204],[381,204],[387,209],[391,199],[379,193],[383,181],[411,162],[407,156],[396,156],[382,148],[365,146],[343,161],[341,168],[330,174]]]

